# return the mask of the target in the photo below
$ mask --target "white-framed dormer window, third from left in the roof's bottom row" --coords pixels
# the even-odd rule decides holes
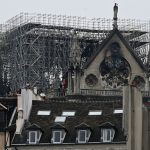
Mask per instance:
[[[89,130],[78,131],[78,143],[86,143],[89,140],[91,132]]]

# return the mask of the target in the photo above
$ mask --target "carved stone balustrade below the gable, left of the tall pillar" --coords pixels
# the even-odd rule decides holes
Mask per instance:
[[[82,89],[81,94],[82,95],[99,95],[99,96],[122,96],[122,91]]]

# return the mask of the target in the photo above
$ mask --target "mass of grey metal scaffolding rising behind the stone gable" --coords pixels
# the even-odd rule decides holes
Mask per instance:
[[[47,92],[56,76],[69,67],[76,31],[81,68],[112,30],[112,19],[20,13],[0,25],[4,70],[12,91],[30,85]],[[118,20],[118,28],[144,65],[149,65],[150,22]]]

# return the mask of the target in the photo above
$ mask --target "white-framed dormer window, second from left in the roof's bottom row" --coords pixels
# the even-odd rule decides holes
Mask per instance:
[[[60,144],[63,142],[64,137],[65,137],[65,132],[63,130],[62,131],[55,130],[53,131],[52,143]]]

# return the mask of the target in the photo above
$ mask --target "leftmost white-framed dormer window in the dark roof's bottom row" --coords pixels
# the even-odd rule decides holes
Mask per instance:
[[[29,131],[29,144],[36,144],[40,141],[40,131]]]

